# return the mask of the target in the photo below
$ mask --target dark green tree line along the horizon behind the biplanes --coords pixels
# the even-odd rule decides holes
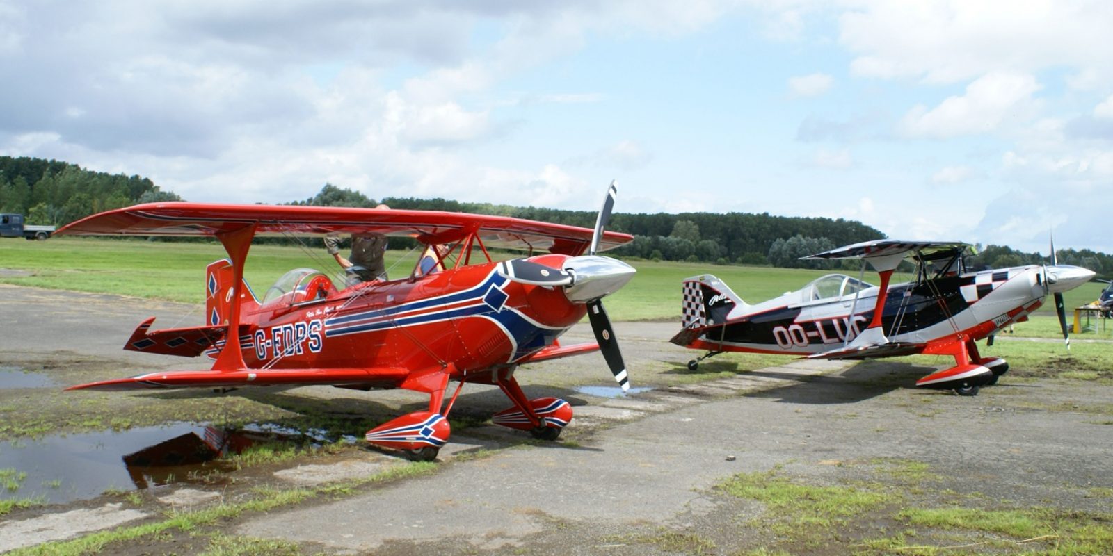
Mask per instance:
[[[0,212],[27,215],[28,224],[62,226],[86,216],[140,202],[181,200],[150,179],[85,170],[58,160],[0,157]],[[376,201],[352,189],[326,183],[321,191],[289,205],[372,208],[378,202],[396,209],[443,210],[508,216],[591,228],[595,212],[541,207],[512,207],[446,199],[387,197]],[[614,251],[620,257],[710,264],[771,265],[788,268],[857,269],[854,260],[801,259],[835,247],[881,239],[880,231],[855,220],[784,217],[747,212],[684,212],[670,215],[615,212],[609,229],[634,236]],[[280,238],[273,240],[282,241]],[[394,241],[392,246],[408,247]],[[1113,256],[1090,249],[1060,249],[1058,262],[1113,276]],[[1047,264],[1038,252],[1005,246],[976,246],[967,256],[971,268],[1003,268]]]

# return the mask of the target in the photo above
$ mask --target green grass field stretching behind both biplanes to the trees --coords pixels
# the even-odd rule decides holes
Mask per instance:
[[[224,249],[216,241],[6,239],[0,241],[0,269],[26,270],[33,275],[17,277],[0,274],[0,282],[203,304],[205,266],[224,257]],[[414,251],[387,251],[391,276],[408,275],[415,259]],[[629,262],[638,269],[638,275],[626,288],[607,299],[608,312],[614,320],[679,320],[680,281],[689,276],[716,275],[742,299],[752,304],[798,289],[827,274],[821,270],[717,266],[702,262],[646,260]],[[262,297],[278,277],[298,267],[328,272],[338,270],[319,240],[308,239],[305,248],[254,246],[244,274],[255,294]],[[871,276],[871,272],[866,272],[865,279],[877,281],[876,275]],[[909,279],[907,275],[897,276],[894,281],[907,279]],[[1067,307],[1073,308],[1096,299],[1102,286],[1102,284],[1087,284],[1068,291]],[[1048,300],[1041,312],[1053,315],[1053,310]],[[1053,322],[1051,332],[1044,330],[1047,326],[1041,326],[1036,335],[1053,335],[1057,326]],[[1018,327],[1018,334],[1027,334],[1020,332],[1021,329],[1024,327]]]

